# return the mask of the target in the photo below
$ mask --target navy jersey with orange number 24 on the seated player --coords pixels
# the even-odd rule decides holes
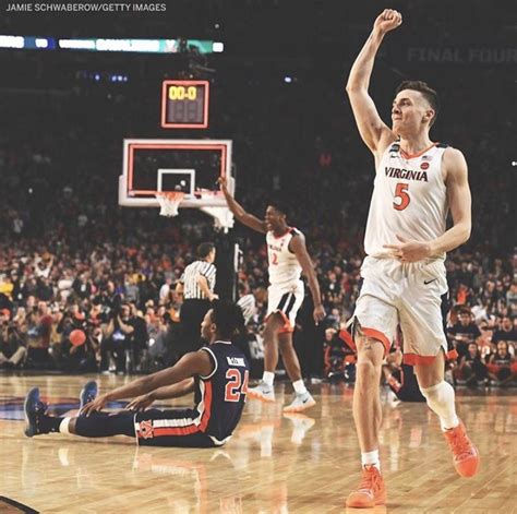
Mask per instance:
[[[223,442],[241,419],[250,368],[244,354],[231,343],[216,342],[200,351],[207,351],[215,366],[208,376],[195,379],[199,430]]]

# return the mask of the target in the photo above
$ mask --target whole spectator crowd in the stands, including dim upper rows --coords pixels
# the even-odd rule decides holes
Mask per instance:
[[[145,103],[134,112],[131,97],[99,100],[86,89],[71,98],[23,97],[1,105],[2,116],[16,116],[17,124],[0,136],[0,368],[145,372],[181,355],[182,299],[175,285],[196,243],[213,237],[212,222],[191,210],[165,219],[157,210],[117,205],[121,140],[156,134],[146,124]],[[261,215],[268,195],[286,196],[289,220],[306,236],[327,318],[322,332],[300,322],[298,332],[313,337],[301,347],[318,355],[309,359],[305,374],[345,373],[352,371],[353,357],[339,334],[359,291],[373,162],[337,93],[327,95],[315,128],[309,123],[315,107],[298,122],[299,104],[289,103],[291,96],[303,98],[303,89],[281,95],[254,106],[242,98],[212,130],[233,140],[238,200]],[[83,117],[88,109],[95,116]],[[265,110],[278,110],[274,125],[261,117]],[[453,304],[447,332],[459,354],[459,383],[508,384],[516,376],[514,178],[498,151],[512,146],[515,122],[500,115],[497,123],[506,127],[501,134],[494,120],[492,131],[468,134],[467,111],[444,127],[467,155],[474,199],[471,240],[446,262]],[[51,133],[43,130],[49,118]],[[241,290],[262,291],[263,238],[243,227],[233,237],[243,250]],[[261,298],[249,323],[255,343],[264,310]],[[71,337],[77,330],[86,335],[82,344]],[[352,372],[344,376],[353,380]]]

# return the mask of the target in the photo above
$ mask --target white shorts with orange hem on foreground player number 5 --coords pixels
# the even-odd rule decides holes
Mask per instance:
[[[401,263],[366,256],[361,276],[353,313],[358,330],[381,340],[387,352],[400,325],[408,364],[432,363],[440,348],[447,354],[448,287],[443,261]]]

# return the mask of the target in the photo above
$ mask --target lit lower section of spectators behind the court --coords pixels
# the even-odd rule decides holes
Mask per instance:
[[[163,219],[155,211],[127,212],[103,203],[92,203],[84,214],[80,194],[67,188],[53,201],[56,225],[44,226],[41,237],[26,229],[32,223],[27,212],[8,211],[2,217],[0,367],[124,373],[172,363],[181,355],[176,336],[182,299],[175,285],[193,259],[194,241],[209,237],[211,222],[195,215]],[[103,222],[106,216],[109,225]],[[339,335],[359,291],[360,232],[329,241],[317,230],[305,231],[327,318],[324,333],[312,342],[321,359],[309,371],[330,376],[342,372],[344,379],[353,380],[353,356]],[[241,290],[263,290],[263,241],[244,229],[236,232],[244,251],[238,273]],[[459,354],[459,383],[504,384],[515,378],[514,265],[510,255],[464,250],[449,255],[454,308],[447,331]],[[261,298],[248,325],[255,344],[264,309]],[[87,335],[84,344],[71,342],[75,330]]]

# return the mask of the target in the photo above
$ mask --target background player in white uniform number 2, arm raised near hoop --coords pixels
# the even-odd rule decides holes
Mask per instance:
[[[320,285],[314,266],[305,248],[302,232],[291,228],[286,222],[286,208],[279,203],[270,203],[265,219],[258,219],[233,199],[227,189],[226,179],[219,179],[229,210],[243,225],[266,235],[269,263],[269,284],[267,289],[267,319],[264,328],[264,374],[256,387],[250,387],[248,395],[265,402],[275,401],[273,382],[278,363],[278,349],[281,352],[287,374],[294,387],[294,398],[284,408],[285,413],[299,413],[315,405],[315,401],[303,383],[300,362],[292,346],[292,332],[298,309],[303,302],[303,282],[308,278],[314,301],[314,322],[325,318]]]

